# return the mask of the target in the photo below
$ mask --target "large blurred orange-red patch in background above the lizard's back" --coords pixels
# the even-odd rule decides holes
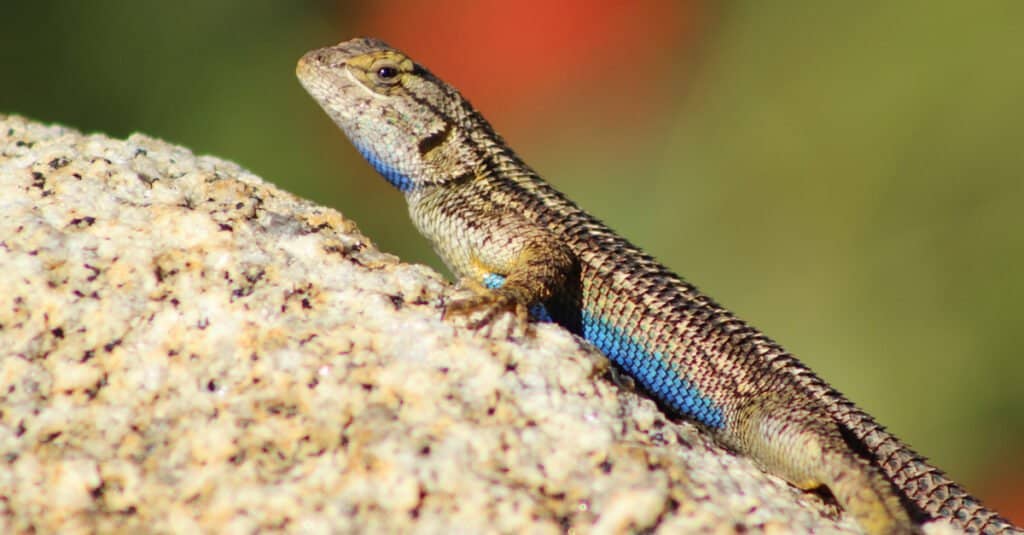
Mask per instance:
[[[507,125],[559,93],[571,104],[589,92],[614,99],[611,109],[642,113],[657,81],[687,64],[699,7],[696,0],[390,0],[365,4],[354,29],[408,51]]]

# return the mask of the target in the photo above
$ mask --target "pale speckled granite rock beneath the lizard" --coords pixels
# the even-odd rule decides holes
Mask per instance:
[[[0,116],[0,532],[855,531],[453,291],[236,164]]]

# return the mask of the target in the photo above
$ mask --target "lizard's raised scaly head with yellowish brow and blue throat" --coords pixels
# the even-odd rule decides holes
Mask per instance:
[[[406,193],[472,176],[482,162],[467,137],[482,117],[454,88],[381,41],[312,50],[296,75],[359,153]]]

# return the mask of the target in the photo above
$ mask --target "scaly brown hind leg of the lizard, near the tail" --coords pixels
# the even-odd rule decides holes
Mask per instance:
[[[847,444],[837,422],[768,398],[737,411],[727,442],[800,489],[827,487],[865,533],[915,532],[892,485]]]

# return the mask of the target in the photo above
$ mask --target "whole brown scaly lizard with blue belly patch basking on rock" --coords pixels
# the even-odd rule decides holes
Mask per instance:
[[[468,289],[443,315],[553,321],[670,416],[804,490],[826,488],[866,533],[944,518],[1021,534],[774,340],[579,208],[462,94],[386,43],[306,53],[296,75],[408,202]]]

